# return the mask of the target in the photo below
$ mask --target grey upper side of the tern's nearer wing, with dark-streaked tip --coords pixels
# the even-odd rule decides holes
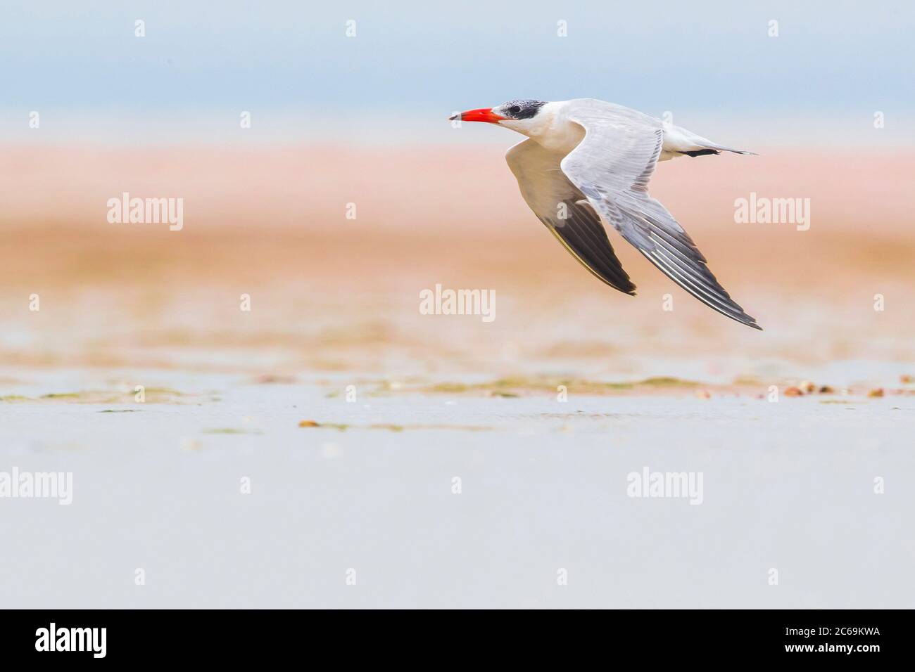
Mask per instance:
[[[653,120],[643,123],[638,117],[617,114],[616,106],[597,103],[581,101],[568,113],[571,121],[584,127],[585,139],[562,160],[565,176],[602,219],[674,283],[722,315],[760,329],[708,270],[689,234],[648,195],[663,129]]]

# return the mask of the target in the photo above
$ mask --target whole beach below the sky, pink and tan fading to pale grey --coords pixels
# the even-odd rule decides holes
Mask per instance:
[[[3,468],[73,499],[4,502],[4,603],[915,606],[906,157],[659,167],[756,332],[613,233],[638,296],[597,283],[503,149],[7,146]],[[184,228],[109,223],[124,190]],[[736,223],[750,192],[809,229]],[[436,284],[494,319],[423,315]],[[628,496],[645,467],[702,506]]]

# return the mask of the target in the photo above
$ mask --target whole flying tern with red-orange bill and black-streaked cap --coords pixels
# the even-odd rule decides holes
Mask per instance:
[[[508,101],[449,119],[496,123],[528,136],[505,155],[522,197],[599,280],[635,294],[603,222],[699,301],[741,324],[762,328],[718,283],[683,227],[648,195],[648,181],[659,161],[752,152],[724,147],[647,114],[591,98]]]

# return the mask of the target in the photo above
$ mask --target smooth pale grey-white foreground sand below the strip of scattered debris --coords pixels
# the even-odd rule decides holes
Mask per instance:
[[[21,391],[117,376],[32,371]],[[915,606],[915,397],[348,403],[308,380],[149,379],[200,396],[0,406],[0,471],[73,473],[70,506],[0,499],[5,606]],[[702,473],[703,503],[627,496],[645,466]]]

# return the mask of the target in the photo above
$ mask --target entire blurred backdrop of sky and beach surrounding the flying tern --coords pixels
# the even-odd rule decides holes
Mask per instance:
[[[870,483],[915,475],[913,19],[5,0],[0,436],[77,488],[0,516],[28,542],[6,603],[911,606],[911,496]],[[521,136],[447,122],[578,97],[759,153],[665,162],[651,193],[765,331],[613,232],[639,295],[598,283],[522,201]],[[183,198],[183,229],[110,223],[124,192]],[[753,193],[810,199],[809,229],[737,223]],[[494,290],[495,320],[420,315],[436,283]],[[829,391],[766,403],[805,381]],[[137,384],[143,412],[95,415]],[[643,464],[705,471],[707,504],[634,505]],[[374,588],[342,595],[353,563]],[[556,596],[560,566],[588,580]]]

